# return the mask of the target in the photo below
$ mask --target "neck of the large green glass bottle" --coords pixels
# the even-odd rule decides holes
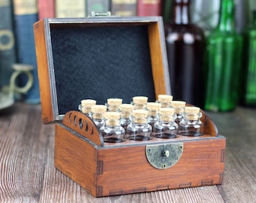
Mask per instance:
[[[235,5],[233,0],[221,1],[220,20],[218,23],[219,30],[224,32],[235,30],[234,11]]]

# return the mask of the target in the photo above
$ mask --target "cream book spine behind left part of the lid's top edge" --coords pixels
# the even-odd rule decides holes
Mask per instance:
[[[76,0],[75,3],[70,0],[55,1],[55,15],[57,18],[63,17],[86,17],[86,0]]]

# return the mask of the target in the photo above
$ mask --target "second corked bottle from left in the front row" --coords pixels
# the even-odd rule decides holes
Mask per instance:
[[[133,110],[132,123],[127,126],[126,139],[134,141],[151,140],[152,127],[148,124],[148,111]]]

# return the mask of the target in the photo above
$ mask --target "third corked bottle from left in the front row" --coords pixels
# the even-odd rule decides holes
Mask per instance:
[[[176,138],[178,124],[175,123],[174,108],[160,108],[159,121],[154,124],[152,135],[156,138]]]

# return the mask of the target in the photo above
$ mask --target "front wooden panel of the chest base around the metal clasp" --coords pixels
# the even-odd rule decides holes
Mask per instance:
[[[99,150],[98,196],[221,184],[225,138],[185,141],[181,159],[168,169],[151,166],[145,146]]]

